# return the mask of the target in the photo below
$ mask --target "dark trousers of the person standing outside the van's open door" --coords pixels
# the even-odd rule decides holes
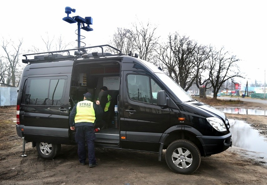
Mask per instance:
[[[75,127],[76,134],[75,134],[75,141],[78,144],[78,156],[80,162],[86,161],[86,149],[85,149],[85,141],[88,147],[88,158],[89,164],[96,163],[96,156],[95,156],[95,143],[96,135],[94,132],[93,126],[77,126]]]

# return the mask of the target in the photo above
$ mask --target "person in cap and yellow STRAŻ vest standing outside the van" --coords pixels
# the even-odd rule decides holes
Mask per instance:
[[[78,156],[81,165],[85,165],[86,161],[86,141],[88,146],[89,167],[95,167],[98,163],[95,156],[94,141],[96,135],[94,132],[94,122],[96,117],[102,116],[103,109],[98,100],[95,104],[91,100],[92,95],[87,92],[84,94],[83,101],[74,105],[70,113],[70,126],[71,130],[76,130],[75,141],[78,144]]]

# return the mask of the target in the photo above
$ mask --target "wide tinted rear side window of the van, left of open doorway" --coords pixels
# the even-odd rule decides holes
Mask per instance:
[[[55,78],[55,77],[54,77]],[[25,105],[62,105],[65,79],[28,78]]]

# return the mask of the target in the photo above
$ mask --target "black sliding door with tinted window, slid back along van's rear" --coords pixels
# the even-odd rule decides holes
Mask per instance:
[[[28,66],[27,80],[22,83],[25,95],[19,102],[25,140],[68,144],[73,61]]]

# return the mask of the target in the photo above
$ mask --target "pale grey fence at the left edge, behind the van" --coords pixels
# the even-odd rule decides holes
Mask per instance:
[[[0,106],[17,105],[18,87],[0,87]]]

